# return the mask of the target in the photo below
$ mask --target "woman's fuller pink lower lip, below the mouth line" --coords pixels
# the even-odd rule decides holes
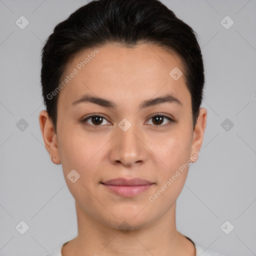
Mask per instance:
[[[117,185],[108,185],[102,184],[111,191],[115,192],[118,195],[129,197],[142,193],[148,189],[152,184],[147,185],[138,185],[138,186],[117,186]]]

